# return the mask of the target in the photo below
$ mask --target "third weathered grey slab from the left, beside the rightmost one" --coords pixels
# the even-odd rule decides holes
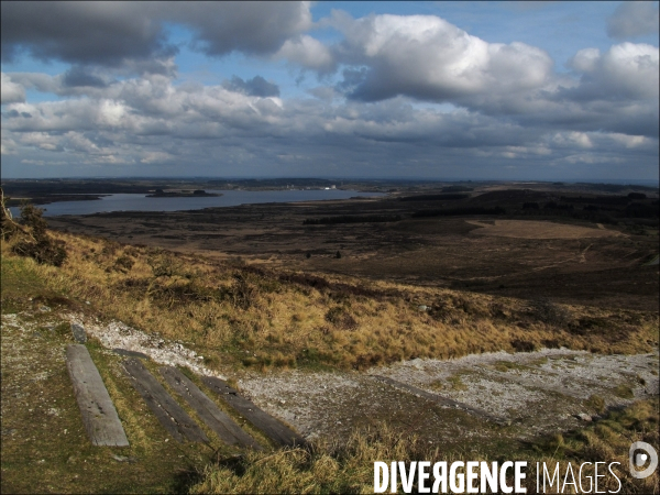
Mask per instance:
[[[262,447],[254,441],[241,427],[239,427],[229,416],[227,416],[204,392],[195,385],[190,378],[173,366],[163,366],[158,370],[165,378],[165,382],[174,391],[184,397],[190,407],[195,409],[197,416],[216,432],[218,438],[230,446],[248,447],[255,450],[262,450]]]

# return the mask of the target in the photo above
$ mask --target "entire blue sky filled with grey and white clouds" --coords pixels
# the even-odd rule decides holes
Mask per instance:
[[[2,178],[658,182],[658,2],[1,8]]]

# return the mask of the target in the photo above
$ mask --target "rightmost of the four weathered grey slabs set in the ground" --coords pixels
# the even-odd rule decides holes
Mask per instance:
[[[307,443],[302,437],[256,407],[252,400],[239,395],[238,391],[230,387],[224,381],[215,376],[202,376],[201,381],[274,442],[280,446],[304,446]]]

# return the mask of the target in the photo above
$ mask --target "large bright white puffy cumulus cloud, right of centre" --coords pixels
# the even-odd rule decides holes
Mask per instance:
[[[435,15],[370,15],[351,20],[336,13],[345,41],[340,59],[349,96],[376,101],[396,95],[452,101],[542,87],[553,61],[524,43],[491,44]]]

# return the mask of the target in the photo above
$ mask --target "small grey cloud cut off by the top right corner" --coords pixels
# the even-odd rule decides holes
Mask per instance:
[[[658,3],[651,1],[625,1],[617,7],[607,22],[607,35],[616,38],[644,34],[658,34],[660,15]]]

